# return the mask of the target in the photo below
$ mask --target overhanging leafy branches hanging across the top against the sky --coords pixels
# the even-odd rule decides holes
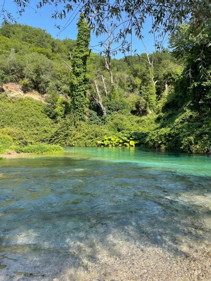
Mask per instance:
[[[7,7],[5,0],[0,15],[5,22],[16,19]],[[31,0],[13,0],[17,5],[17,12],[22,15],[26,6],[30,6]],[[107,31],[107,23],[112,22],[113,30],[117,31],[117,40],[122,40],[122,50],[130,47],[127,42],[127,34],[132,31],[142,38],[142,28],[147,17],[152,18],[151,33],[159,32],[161,41],[166,34],[175,33],[176,27],[181,23],[190,22],[194,36],[198,36],[198,27],[210,29],[211,6],[210,0],[41,0],[37,8],[54,4],[55,10],[52,17],[66,18],[69,13],[83,12],[89,20],[90,26],[95,28],[96,35]],[[59,4],[59,5],[58,5]],[[61,7],[59,9],[59,7]],[[74,15],[75,16],[75,15]],[[60,27],[61,31],[65,28]],[[158,44],[158,43],[157,43]],[[157,45],[158,47],[158,45]]]

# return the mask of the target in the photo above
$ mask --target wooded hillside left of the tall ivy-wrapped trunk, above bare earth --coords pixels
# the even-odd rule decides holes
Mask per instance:
[[[75,44],[71,39],[54,39],[42,29],[4,24],[0,28],[0,69],[24,90],[31,87],[40,93],[68,95],[69,72],[62,60],[68,62],[68,51]]]

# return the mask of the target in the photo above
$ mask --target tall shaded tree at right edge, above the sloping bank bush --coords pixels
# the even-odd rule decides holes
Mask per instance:
[[[200,41],[195,42],[189,25],[181,25],[178,36],[170,37],[170,47],[173,55],[185,62],[185,68],[179,83],[175,86],[177,103],[181,106],[184,101],[191,101],[190,105],[197,110],[205,105],[210,111],[211,100],[211,30],[203,29]],[[174,101],[174,104],[177,104]]]

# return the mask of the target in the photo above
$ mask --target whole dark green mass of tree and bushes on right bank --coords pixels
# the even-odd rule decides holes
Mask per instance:
[[[211,146],[211,56],[206,43],[210,38],[211,32],[202,33],[195,44],[188,26],[171,37],[173,54],[185,61],[185,67],[158,115],[158,130],[146,139],[149,147],[204,153]]]

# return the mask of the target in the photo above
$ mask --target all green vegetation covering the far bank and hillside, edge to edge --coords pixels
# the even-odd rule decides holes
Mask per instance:
[[[46,101],[14,99],[8,97],[9,92],[0,94],[1,150],[16,145],[23,151],[25,146],[44,143],[141,144],[206,153],[211,145],[211,56],[206,43],[210,33],[202,32],[201,41],[195,42],[191,29],[181,26],[178,35],[170,38],[171,53],[163,50],[149,55],[153,67],[146,54],[112,59],[116,87],[110,83],[103,57],[88,56],[90,30],[82,18],[81,24],[82,33],[87,35],[78,35],[79,45],[70,39],[53,39],[33,27],[6,24],[0,29],[3,84],[16,81],[25,92],[35,89],[45,94]],[[73,67],[71,74],[62,60]],[[81,76],[76,75],[77,71]],[[97,71],[98,77],[106,78],[108,96],[103,94],[100,78],[97,82],[107,115],[102,115],[97,104],[86,96],[90,91],[98,98],[93,87]],[[80,115],[81,120],[76,122],[75,116]]]

